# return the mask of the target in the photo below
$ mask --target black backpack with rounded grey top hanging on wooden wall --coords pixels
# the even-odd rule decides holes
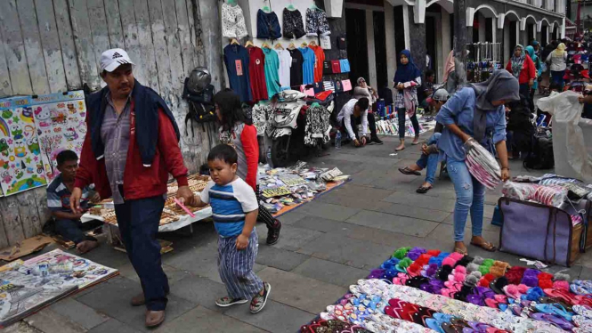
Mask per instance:
[[[191,134],[193,122],[201,124],[205,131],[206,123],[215,122],[214,85],[210,85],[212,78],[206,68],[198,67],[191,71],[190,77],[185,78],[182,98],[189,104],[189,111],[185,116],[185,135],[187,135],[187,123],[191,120]]]

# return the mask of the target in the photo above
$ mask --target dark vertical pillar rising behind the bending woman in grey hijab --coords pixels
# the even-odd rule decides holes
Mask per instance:
[[[458,86],[466,84],[466,4],[454,0],[454,64]]]

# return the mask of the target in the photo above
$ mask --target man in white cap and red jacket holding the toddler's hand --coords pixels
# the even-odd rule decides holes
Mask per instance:
[[[121,239],[142,282],[143,293],[132,305],[146,305],[146,326],[155,327],[165,321],[169,290],[157,240],[168,175],[179,184],[178,198],[191,204],[193,193],[173,113],[158,93],[134,79],[133,69],[122,49],[101,54],[107,86],[86,100],[88,131],[70,207],[80,211],[81,189],[91,183],[101,198],[113,198]]]

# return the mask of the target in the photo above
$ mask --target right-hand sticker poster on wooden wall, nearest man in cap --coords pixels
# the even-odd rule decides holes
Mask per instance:
[[[55,158],[62,150],[73,150],[80,156],[86,134],[84,99],[83,91],[52,93],[31,99],[39,149],[48,182],[59,174]]]

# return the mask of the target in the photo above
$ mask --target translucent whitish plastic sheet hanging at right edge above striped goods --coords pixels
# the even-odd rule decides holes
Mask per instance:
[[[539,99],[537,106],[553,116],[555,173],[592,183],[592,120],[581,118],[579,96],[556,93]]]

